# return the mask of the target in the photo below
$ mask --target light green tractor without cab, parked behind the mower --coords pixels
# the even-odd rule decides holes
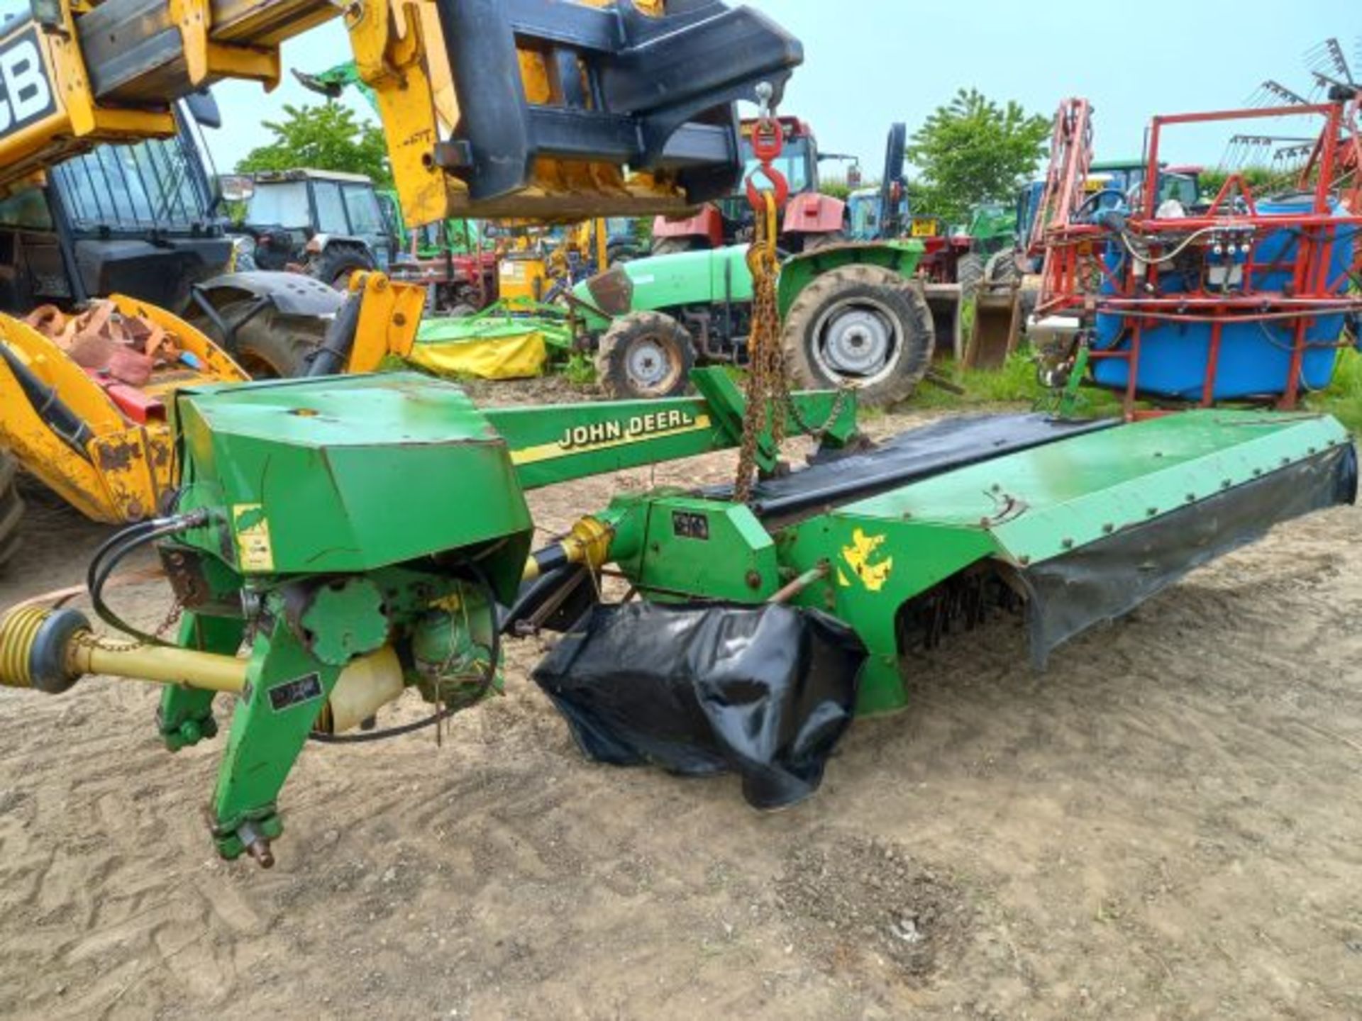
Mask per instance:
[[[684,393],[697,362],[745,365],[752,327],[746,245],[651,256],[573,289],[607,393]],[[932,363],[922,244],[843,244],[780,268],[782,344],[798,385],[854,385],[862,406],[908,398]]]

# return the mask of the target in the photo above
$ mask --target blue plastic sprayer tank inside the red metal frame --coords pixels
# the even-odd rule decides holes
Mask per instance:
[[[1291,196],[1278,200],[1264,200],[1257,206],[1264,216],[1284,216],[1309,214],[1310,196]],[[1337,206],[1332,207],[1335,216],[1343,215]],[[1329,229],[1333,244],[1329,249],[1327,271],[1329,286],[1335,286],[1347,275],[1352,265],[1355,248],[1351,226]],[[1278,291],[1290,282],[1298,240],[1291,230],[1275,230],[1264,237],[1254,252],[1254,263],[1261,270],[1253,275],[1254,290]],[[1120,241],[1107,245],[1107,270],[1120,278],[1125,270],[1128,253]],[[1282,270],[1269,270],[1282,265]],[[1178,282],[1171,275],[1160,275],[1166,293],[1178,293],[1194,287],[1194,280]],[[1109,282],[1102,287],[1105,294],[1114,291]],[[1098,316],[1095,350],[1129,350],[1129,336],[1124,336],[1125,316],[1103,313]],[[1286,392],[1291,370],[1293,346],[1291,320],[1230,323],[1220,332],[1220,355],[1216,369],[1214,396],[1216,400],[1239,398],[1275,396]],[[1320,344],[1333,344],[1343,331],[1343,313],[1316,316],[1306,338]],[[1205,383],[1207,361],[1211,353],[1209,323],[1162,323],[1145,325],[1140,336],[1140,376],[1136,389],[1147,396],[1200,400]],[[1336,347],[1308,347],[1301,362],[1301,388],[1323,389],[1333,377],[1337,361]],[[1092,377],[1102,387],[1125,389],[1129,378],[1129,362],[1124,358],[1099,358],[1092,362]]]

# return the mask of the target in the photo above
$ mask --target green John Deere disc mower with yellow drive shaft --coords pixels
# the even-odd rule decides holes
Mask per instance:
[[[804,392],[768,408],[746,502],[729,487],[621,494],[534,549],[527,490],[740,442],[733,381],[695,381],[697,396],[509,410],[413,374],[181,391],[176,498],[90,568],[113,633],[72,609],[15,610],[0,681],[49,694],[87,674],[163,685],[155,728],[172,751],[214,738],[215,700],[236,700],[212,839],[270,864],[309,741],[396,736],[477,705],[501,687],[503,636],[571,628],[599,599],[582,584],[594,572],[658,607],[831,618],[864,649],[855,709],[885,713],[906,705],[922,649],[993,609],[1027,615],[1039,666],[1190,568],[1355,491],[1352,444],[1328,417],[994,415],[870,445],[854,399]],[[774,414],[816,436],[808,467],[780,464]],[[184,609],[174,643],[105,598],[148,545]],[[718,662],[741,651],[715,641]],[[403,726],[384,712],[373,730],[409,690],[429,712]]]

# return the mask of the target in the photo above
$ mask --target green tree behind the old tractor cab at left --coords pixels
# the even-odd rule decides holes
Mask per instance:
[[[237,163],[237,173],[253,170],[345,170],[368,174],[383,188],[391,187],[388,146],[383,131],[360,121],[354,110],[340,103],[285,106],[283,121],[266,121],[274,142],[257,146]]]

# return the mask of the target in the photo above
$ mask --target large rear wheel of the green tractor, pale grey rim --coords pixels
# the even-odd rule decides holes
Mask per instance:
[[[846,265],[799,293],[782,343],[799,385],[850,383],[861,404],[887,407],[926,376],[936,339],[918,285],[878,265]]]

